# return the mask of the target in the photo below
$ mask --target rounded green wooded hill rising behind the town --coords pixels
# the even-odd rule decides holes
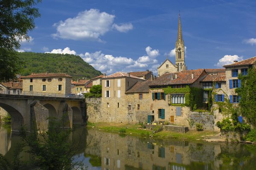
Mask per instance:
[[[102,74],[81,57],[71,54],[23,52],[17,55],[24,62],[24,68],[20,72],[22,76],[48,71],[49,73],[67,73],[76,81],[83,77],[90,79]]]

